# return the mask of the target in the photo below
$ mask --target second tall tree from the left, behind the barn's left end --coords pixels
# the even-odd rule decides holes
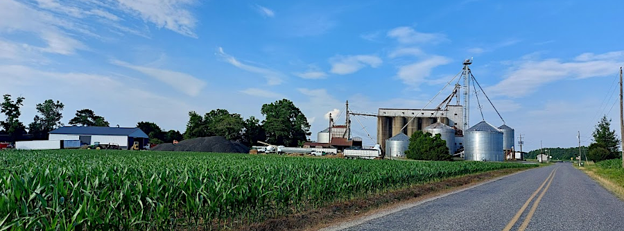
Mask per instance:
[[[64,105],[60,101],[55,103],[49,99],[44,101],[44,103],[37,103],[36,108],[41,116],[35,115],[33,123],[28,125],[28,130],[35,139],[47,139],[48,132],[63,126],[60,120],[63,118],[62,110]]]

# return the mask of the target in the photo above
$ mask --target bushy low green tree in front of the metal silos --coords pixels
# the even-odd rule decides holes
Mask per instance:
[[[440,134],[432,136],[431,133],[421,130],[417,130],[410,137],[410,145],[405,153],[413,160],[453,160],[447,142]]]

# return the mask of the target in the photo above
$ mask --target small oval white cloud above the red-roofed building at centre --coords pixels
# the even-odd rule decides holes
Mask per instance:
[[[331,63],[329,72],[339,75],[353,74],[367,65],[376,68],[382,63],[381,58],[375,55],[338,55],[331,58],[329,62]]]

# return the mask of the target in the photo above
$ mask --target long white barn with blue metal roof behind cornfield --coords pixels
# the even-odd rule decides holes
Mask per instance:
[[[129,149],[139,142],[143,148],[149,142],[148,135],[140,128],[111,128],[95,126],[68,126],[49,132],[49,140],[80,140],[81,145],[118,144],[122,149]]]

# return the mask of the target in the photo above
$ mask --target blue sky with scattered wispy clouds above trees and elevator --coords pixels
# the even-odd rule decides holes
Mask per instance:
[[[261,117],[291,99],[312,124],[422,108],[474,58],[474,76],[526,150],[591,140],[616,119],[622,1],[0,1],[0,93],[90,108],[112,125],[184,131],[187,112]],[[451,89],[433,101],[437,105]],[[480,99],[483,100],[483,97]],[[471,125],[480,121],[472,101]],[[483,101],[482,101],[483,103]],[[485,119],[503,122],[491,108]],[[373,139],[376,120],[361,118]],[[354,135],[365,137],[355,123]]]

